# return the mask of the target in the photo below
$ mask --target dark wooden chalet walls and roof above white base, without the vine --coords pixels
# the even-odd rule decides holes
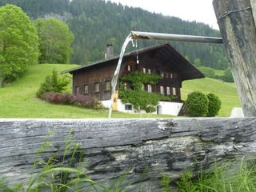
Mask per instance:
[[[178,54],[169,44],[151,46],[126,54],[123,58],[120,78],[136,70],[142,73],[160,74],[162,79],[155,86],[144,85],[149,92],[173,95],[181,100],[180,88],[182,81],[194,78],[204,78],[203,74],[194,68],[181,54]],[[110,81],[118,63],[118,57],[94,62],[65,71],[73,74],[73,93],[88,94],[99,101],[110,99]],[[118,88],[117,88],[118,89]]]

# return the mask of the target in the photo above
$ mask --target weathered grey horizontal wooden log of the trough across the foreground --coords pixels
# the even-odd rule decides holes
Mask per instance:
[[[6,176],[10,183],[26,182],[31,173],[42,169],[32,168],[34,161],[46,161],[62,151],[73,129],[90,178],[109,184],[130,168],[128,189],[134,191],[147,169],[142,191],[159,191],[163,173],[177,179],[190,168],[207,169],[214,162],[254,155],[255,123],[256,118],[1,119],[0,177]],[[52,146],[38,154],[46,140]]]

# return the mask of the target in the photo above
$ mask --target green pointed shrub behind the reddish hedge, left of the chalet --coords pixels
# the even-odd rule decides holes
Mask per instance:
[[[36,93],[38,98],[42,97],[42,94],[48,92],[62,93],[63,90],[66,90],[66,86],[70,83],[65,77],[59,78],[58,71],[53,70],[51,75],[48,75],[45,79],[45,82],[41,84],[38,92]]]

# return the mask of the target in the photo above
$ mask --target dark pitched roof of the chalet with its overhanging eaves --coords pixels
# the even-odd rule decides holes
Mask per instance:
[[[139,54],[143,54],[153,50],[157,51],[158,58],[162,59],[167,64],[171,64],[175,66],[179,70],[179,72],[182,75],[182,81],[188,80],[188,79],[194,79],[194,78],[205,78],[205,76],[199,70],[197,70],[190,62],[188,62],[186,58],[183,58],[182,55],[179,54],[177,50],[174,50],[174,48],[169,44],[149,46],[146,48],[142,48],[138,51],[137,50],[131,51],[126,53],[123,59],[136,55],[137,53],[139,55]],[[118,60],[118,59],[119,59],[119,56],[102,59],[100,61],[90,63],[89,65],[78,66],[70,70],[65,70],[62,72],[62,74],[65,74],[65,73],[73,74],[78,70],[87,70],[87,69],[89,70],[92,66],[98,66],[99,64],[102,64],[105,62],[111,62],[111,61],[114,62],[115,60]]]

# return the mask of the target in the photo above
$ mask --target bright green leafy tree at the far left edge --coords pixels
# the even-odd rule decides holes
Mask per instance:
[[[38,34],[30,18],[17,6],[0,7],[0,84],[37,62]]]

